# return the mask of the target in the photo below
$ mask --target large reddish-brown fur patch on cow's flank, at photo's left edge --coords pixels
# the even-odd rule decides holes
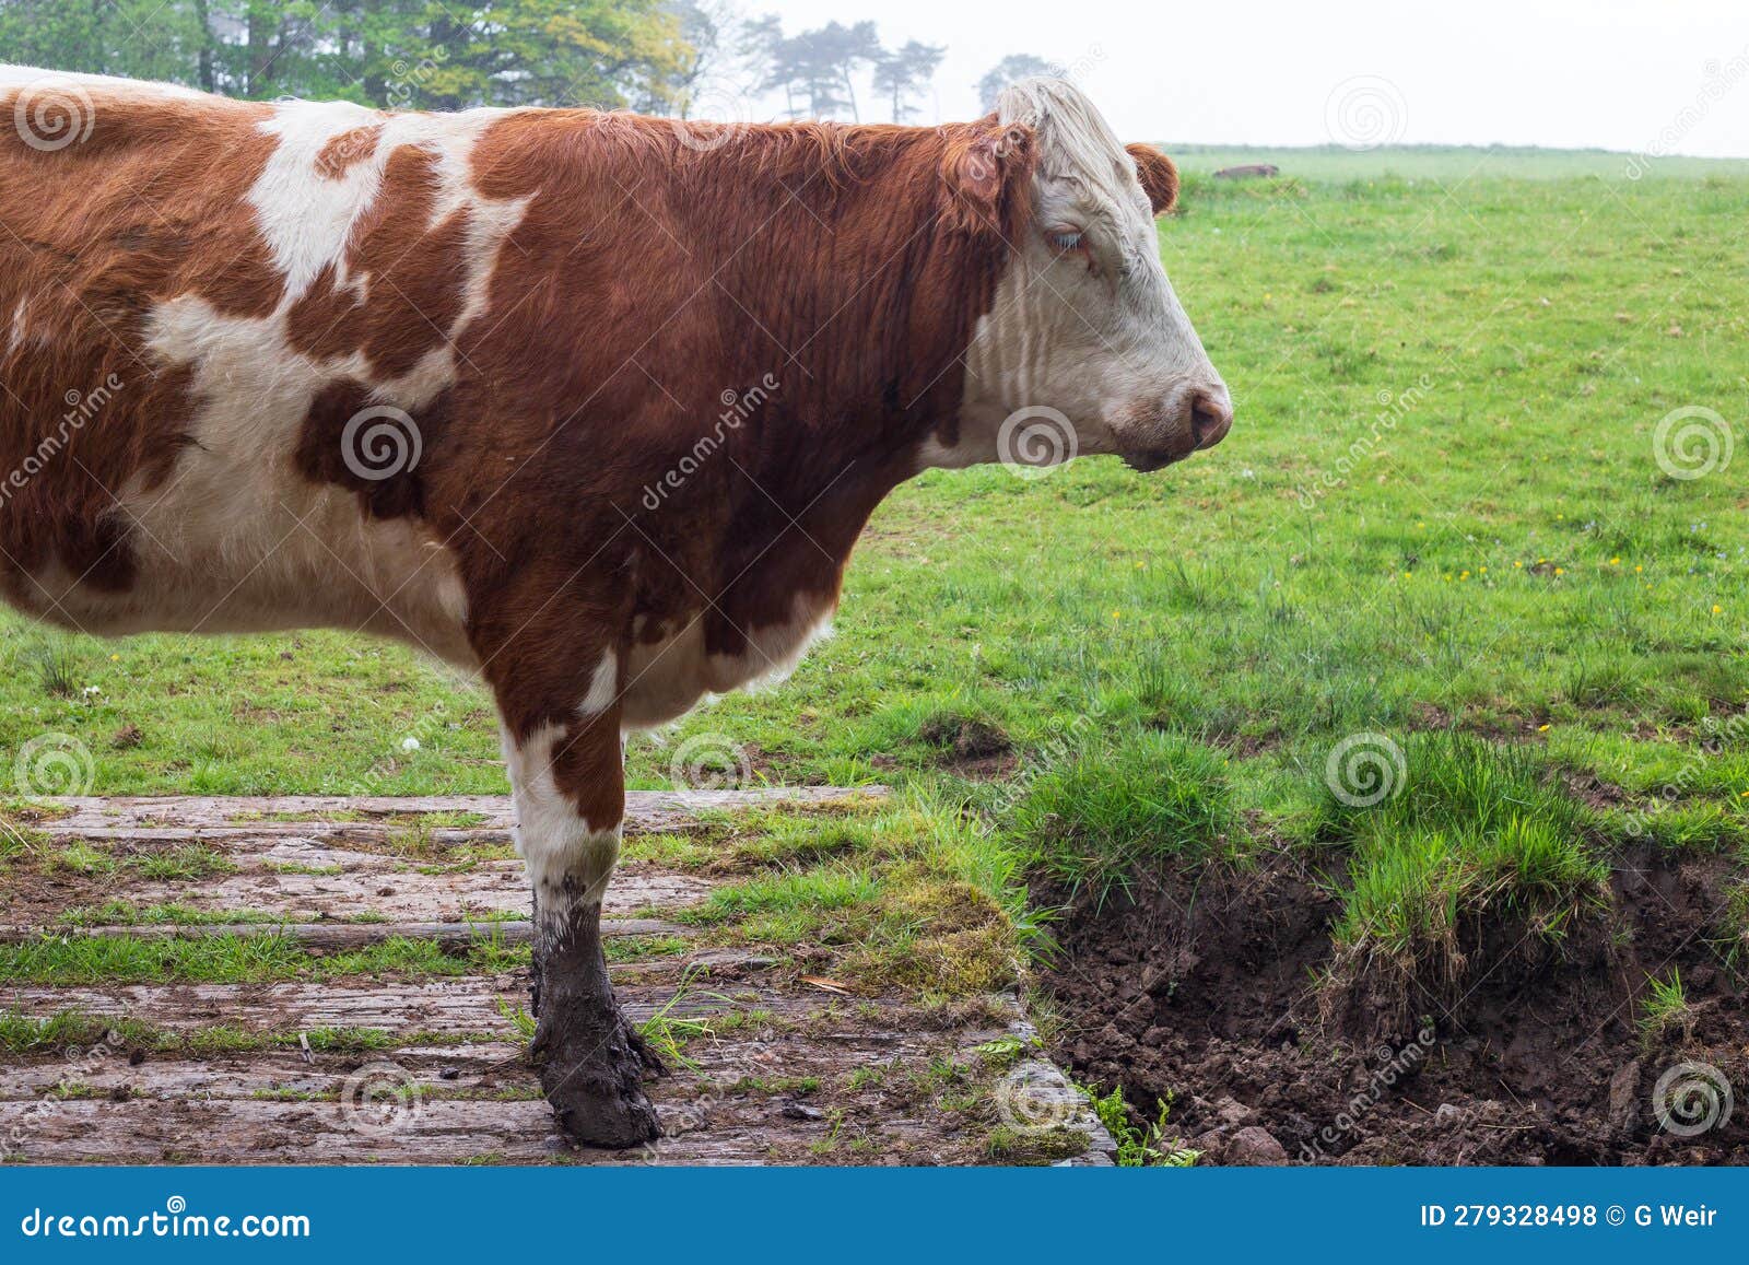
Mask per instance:
[[[266,112],[98,93],[91,135],[68,149],[40,152],[0,131],[0,478],[63,434],[68,392],[112,374],[122,383],[44,472],[0,486],[0,591],[31,595],[28,576],[52,560],[98,590],[131,583],[112,493],[133,476],[149,488],[170,478],[194,409],[189,371],[142,353],[149,304],[196,294],[224,313],[266,315],[282,292],[241,203],[273,147],[255,131]]]

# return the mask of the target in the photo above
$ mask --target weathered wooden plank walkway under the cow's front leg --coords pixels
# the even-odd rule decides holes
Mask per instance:
[[[628,833],[696,828],[703,810],[848,794],[631,793]],[[222,864],[194,878],[122,868],[38,891],[0,871],[0,943],[289,936],[311,954],[334,954],[390,938],[451,952],[528,938],[521,868],[504,856],[507,800],[49,803],[61,815],[33,829],[51,845],[121,854],[196,845]],[[943,1018],[915,997],[822,990],[803,978],[806,962],[701,943],[680,917],[712,885],[631,863],[609,896],[609,934],[630,959],[610,968],[628,1015],[659,1017],[689,1038],[686,1066],[651,1085],[665,1129],[652,1146],[609,1153],[556,1134],[525,1055],[528,975],[481,969],[399,982],[0,983],[0,1010],[14,1015],[70,1013],[93,1032],[115,1025],[96,1046],[7,1055],[0,1148],[35,1164],[990,1162],[967,1118],[979,1113],[943,1109],[927,1078],[932,1067],[976,1066],[978,1046],[993,1041],[1030,1045],[1013,996]],[[185,926],[58,924],[73,905],[192,913]],[[222,917],[266,920],[213,922]],[[652,952],[638,955],[638,947]],[[1065,1085],[1039,1060],[1021,1071]],[[1084,1104],[1072,1099],[1065,1111],[1090,1139],[1067,1162],[1109,1164],[1111,1139]]]

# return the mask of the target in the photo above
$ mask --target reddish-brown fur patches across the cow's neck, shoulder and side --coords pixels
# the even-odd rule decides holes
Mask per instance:
[[[0,509],[9,590],[49,560],[131,583],[110,492],[170,478],[198,404],[185,369],[150,364],[145,313],[196,294],[259,317],[282,294],[243,201],[275,145],[266,112],[100,98],[82,145],[0,142],[0,317],[26,299],[28,334],[3,362],[0,464],[37,446],[68,383],[128,383]],[[378,140],[336,136],[311,178]],[[481,194],[530,201],[460,332],[456,383],[415,416],[420,465],[366,483],[338,460],[364,383],[324,390],[287,439],[306,478],[350,486],[367,516],[418,516],[455,551],[469,637],[519,737],[574,714],[635,616],[645,637],[703,619],[705,647],[738,654],[798,593],[836,600],[916,444],[951,441],[958,357],[1028,229],[1032,145],[992,117],[745,128],[698,152],[665,121],[526,110],[483,135],[474,170]],[[346,248],[369,301],[318,276],[290,311],[297,350],[362,352],[388,378],[442,345],[469,226],[465,210],[432,224],[434,196],[427,152],[388,156]],[[766,374],[780,388],[645,507],[724,392]],[[568,765],[561,784],[589,794]]]

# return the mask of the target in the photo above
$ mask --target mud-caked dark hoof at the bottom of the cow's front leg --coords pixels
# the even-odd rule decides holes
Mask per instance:
[[[661,1136],[644,1094],[644,1057],[617,1013],[603,1025],[542,1024],[533,1055],[540,1088],[572,1141],[624,1150]]]

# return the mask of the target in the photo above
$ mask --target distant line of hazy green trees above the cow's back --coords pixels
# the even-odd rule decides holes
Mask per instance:
[[[733,0],[0,0],[0,49],[247,98],[708,114],[733,91],[780,96],[789,117],[894,122],[923,114],[946,52],[888,49],[871,21],[791,35]],[[978,91],[988,108],[1002,84],[1051,70],[1004,58]]]

